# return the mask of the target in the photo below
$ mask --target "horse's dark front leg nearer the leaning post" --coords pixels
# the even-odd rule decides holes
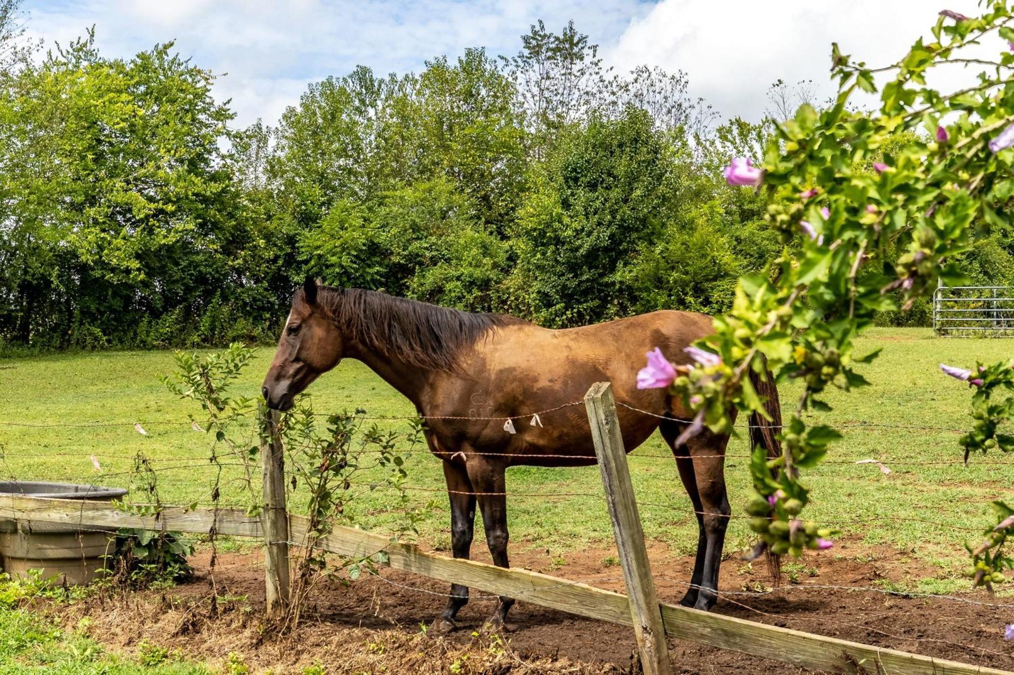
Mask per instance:
[[[486,543],[490,547],[493,564],[500,568],[509,568],[505,467],[497,461],[474,454],[468,455],[467,467],[468,478],[476,489],[479,509],[483,514]],[[506,623],[507,612],[513,604],[512,598],[500,596],[493,615],[486,622],[486,629],[491,632],[510,630]]]

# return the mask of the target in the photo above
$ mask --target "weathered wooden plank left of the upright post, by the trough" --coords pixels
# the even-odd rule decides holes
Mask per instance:
[[[54,500],[19,495],[0,495],[0,518],[14,518],[27,522],[60,523],[89,527],[131,527],[143,530],[175,530],[208,534],[214,525],[215,532],[223,535],[263,536],[261,520],[250,518],[242,511],[212,509],[186,511],[170,507],[158,517],[138,516],[116,508],[110,502]]]

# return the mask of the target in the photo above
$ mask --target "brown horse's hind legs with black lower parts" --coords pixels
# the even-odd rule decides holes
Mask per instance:
[[[725,446],[729,437],[705,429],[685,446],[675,447],[674,441],[682,428],[684,425],[676,422],[661,425],[662,436],[676,456],[679,477],[698,517],[697,559],[691,589],[680,604],[711,609],[718,599],[718,573],[731,513],[724,472]]]

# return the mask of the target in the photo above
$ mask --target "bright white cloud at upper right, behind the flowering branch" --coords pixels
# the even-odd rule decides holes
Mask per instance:
[[[789,84],[812,79],[822,96],[828,81],[830,45],[870,65],[901,57],[932,26],[944,7],[977,13],[975,0],[662,0],[631,22],[606,52],[621,68],[639,64],[687,73],[691,90],[725,117],[757,119],[766,93],[779,78]],[[1006,45],[995,39],[993,53]],[[986,49],[986,48],[984,48]],[[934,80],[947,86],[976,71],[957,66]]]

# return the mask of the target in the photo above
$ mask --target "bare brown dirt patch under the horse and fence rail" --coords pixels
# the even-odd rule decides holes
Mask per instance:
[[[716,611],[869,645],[1014,669],[1014,650],[1003,626],[1014,611],[968,602],[906,598],[828,586],[874,586],[919,578],[932,572],[889,547],[840,543],[836,552],[808,555],[787,572],[787,587],[764,591],[770,578],[763,565],[730,557],[722,566]],[[478,552],[478,551],[477,551]],[[623,591],[622,573],[609,549],[586,549],[554,557],[544,551],[518,553],[512,562],[594,586]],[[479,559],[484,559],[478,556]],[[651,547],[660,599],[676,602],[685,590],[693,559]],[[461,628],[447,638],[423,634],[443,607],[445,584],[393,570],[351,585],[321,584],[307,619],[295,634],[278,640],[264,630],[260,553],[219,555],[214,578],[208,556],[195,559],[198,578],[163,594],[147,593],[77,605],[62,610],[68,623],[91,616],[92,634],[128,651],[147,639],[187,655],[224,663],[241,655],[250,672],[299,673],[320,664],[328,673],[626,673],[634,650],[633,632],[519,600],[511,612],[516,629],[506,641],[475,634],[493,608],[493,599],[474,593],[459,614]],[[788,583],[790,578],[799,583]],[[211,616],[212,591],[219,602]],[[988,600],[983,594],[968,599]],[[798,668],[727,650],[671,641],[675,672],[800,673]],[[455,665],[456,664],[456,665]]]

